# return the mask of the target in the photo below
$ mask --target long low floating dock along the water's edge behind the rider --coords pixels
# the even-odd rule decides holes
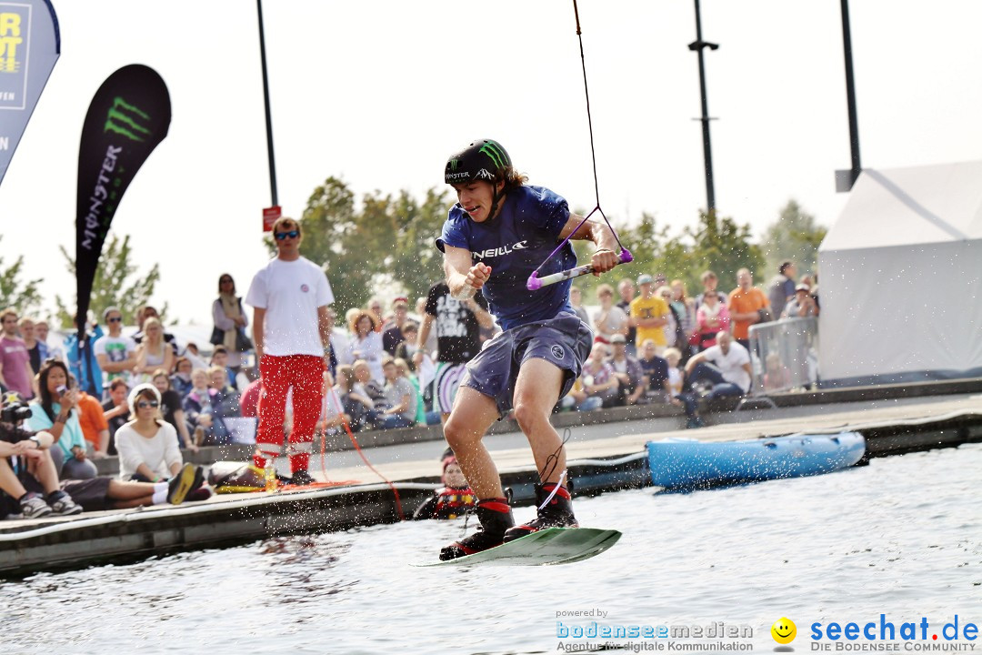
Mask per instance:
[[[889,400],[889,398],[888,398]],[[576,495],[649,486],[645,442],[668,436],[700,441],[730,441],[794,433],[860,432],[869,458],[982,441],[982,395],[898,399],[886,407],[858,402],[846,405],[797,404],[782,409],[716,414],[719,422],[698,430],[678,430],[677,415],[611,422],[595,430],[600,436],[567,445]],[[882,406],[883,403],[881,402]],[[636,410],[640,408],[630,408]],[[669,409],[669,408],[665,408]],[[659,409],[663,410],[663,409]],[[672,408],[673,412],[677,411]],[[606,412],[593,412],[596,419]],[[616,413],[608,414],[617,416]],[[573,414],[562,414],[567,419]],[[568,420],[568,419],[567,419]],[[668,429],[664,422],[672,421]],[[562,422],[562,421],[557,421]],[[676,429],[672,429],[672,426]],[[501,428],[498,428],[499,431]],[[395,432],[395,431],[393,431]],[[409,432],[409,431],[407,431]],[[374,433],[369,433],[374,434]],[[393,438],[395,435],[386,435]],[[409,443],[419,441],[415,437]],[[405,442],[404,442],[405,443]],[[383,446],[367,447],[368,459]],[[527,446],[492,452],[503,480],[515,491],[518,505],[529,504],[538,481]],[[240,458],[242,459],[242,458]],[[316,458],[312,460],[315,461]],[[328,455],[330,463],[331,456]],[[860,462],[862,464],[863,462]],[[103,464],[106,465],[106,464]],[[359,480],[340,486],[276,493],[216,495],[202,503],[136,510],[85,513],[72,518],[0,522],[0,575],[19,576],[43,570],[76,569],[122,563],[177,550],[241,544],[274,535],[347,529],[356,525],[409,518],[437,486],[432,458],[399,458],[375,463],[390,483],[365,466],[332,468],[333,480]],[[315,477],[323,477],[315,474]]]

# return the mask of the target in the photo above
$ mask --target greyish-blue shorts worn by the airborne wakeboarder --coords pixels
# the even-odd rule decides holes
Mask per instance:
[[[575,314],[561,313],[547,321],[519,325],[484,345],[467,363],[461,386],[493,398],[505,416],[512,409],[518,369],[527,359],[545,359],[563,370],[559,395],[563,398],[573,388],[592,346],[593,333]]]

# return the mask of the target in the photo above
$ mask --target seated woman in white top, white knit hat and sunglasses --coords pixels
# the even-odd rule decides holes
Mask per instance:
[[[178,478],[187,489],[201,486],[200,466],[184,464],[178,433],[160,413],[160,392],[152,384],[136,385],[129,397],[129,423],[116,432],[120,454],[120,479],[162,482]],[[186,492],[187,494],[187,492]]]

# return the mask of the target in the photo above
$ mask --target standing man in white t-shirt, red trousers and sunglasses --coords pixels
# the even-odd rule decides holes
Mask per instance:
[[[287,454],[294,484],[309,484],[314,428],[323,400],[323,371],[330,365],[328,306],[331,285],[319,266],[300,256],[300,223],[273,225],[277,256],[252,278],[246,304],[253,308],[252,339],[262,393],[253,464],[259,469],[283,446],[287,392],[293,388],[294,421]],[[256,471],[259,472],[259,471]]]

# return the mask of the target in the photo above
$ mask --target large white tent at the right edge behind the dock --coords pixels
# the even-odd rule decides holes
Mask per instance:
[[[982,376],[982,161],[863,171],[818,261],[824,386]]]

